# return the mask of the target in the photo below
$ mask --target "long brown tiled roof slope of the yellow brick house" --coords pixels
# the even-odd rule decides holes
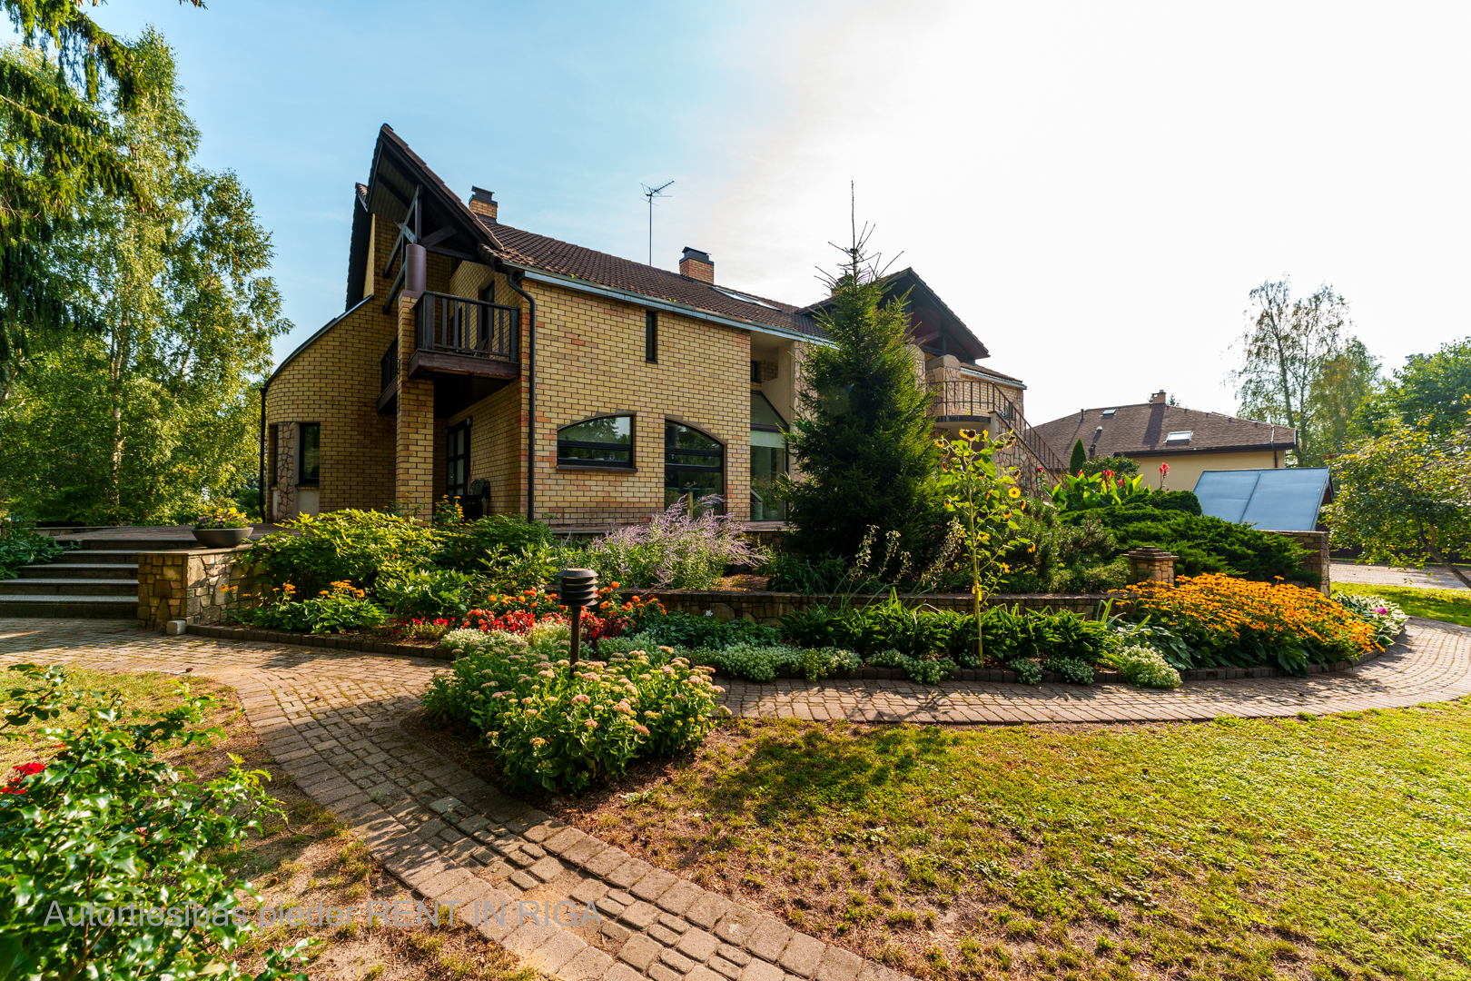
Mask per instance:
[[[822,337],[816,321],[800,313],[790,303],[758,297],[734,287],[722,287],[731,293],[741,293],[750,296],[753,300],[761,300],[761,303],[747,303],[721,293],[721,288],[708,282],[681,277],[678,272],[646,266],[638,262],[610,256],[606,252],[594,252],[583,246],[537,235],[512,228],[510,225],[491,222],[485,216],[481,216],[480,222],[503,247],[503,257],[507,262],[587,279],[588,282],[616,290],[628,290],[630,293],[655,300],[683,303],[709,313]]]

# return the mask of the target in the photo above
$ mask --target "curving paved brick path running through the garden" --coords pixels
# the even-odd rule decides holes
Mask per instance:
[[[207,675],[240,693],[262,743],[425,899],[460,903],[480,932],[563,981],[899,981],[694,882],[512,800],[413,743],[403,716],[443,662],[321,647],[146,634],[112,621],[0,619],[0,665],[66,662]],[[844,681],[730,685],[743,715],[915,722],[1103,722],[1390,707],[1471,694],[1471,631],[1425,621],[1408,641],[1339,675],[1118,685]],[[556,909],[527,918],[518,902]],[[571,906],[556,906],[568,902]],[[600,921],[583,915],[596,902]],[[550,903],[552,906],[547,906]],[[505,909],[503,922],[478,915]],[[468,912],[466,912],[468,910]],[[584,922],[578,922],[584,919]]]

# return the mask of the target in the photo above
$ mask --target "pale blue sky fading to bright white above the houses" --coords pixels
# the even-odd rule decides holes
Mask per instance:
[[[387,122],[502,221],[809,302],[847,234],[903,252],[1027,415],[1233,410],[1247,291],[1331,282],[1387,366],[1471,334],[1471,15],[1353,3],[241,3],[94,16],[175,46],[296,329],[341,310]]]

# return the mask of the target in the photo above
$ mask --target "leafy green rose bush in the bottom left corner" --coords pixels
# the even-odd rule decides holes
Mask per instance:
[[[181,912],[154,925],[72,927],[87,906],[182,910],[240,909],[237,893],[259,896],[232,881],[210,856],[244,840],[266,815],[284,818],[262,787],[263,771],[231,766],[200,782],[159,759],[169,746],[204,746],[215,729],[196,727],[215,704],[179,684],[184,703],[160,716],[128,709],[119,693],[76,691],[60,666],[16,665],[28,684],[13,688],[6,729],[50,722],[63,712],[84,716],[75,728],[43,725],[59,752],[38,772],[0,793],[0,963],[4,977],[246,978],[231,950],[246,927],[209,919],[188,927]],[[13,732],[6,732],[13,735]],[[63,910],[57,921],[51,913]],[[284,977],[302,944],[268,957],[257,981]],[[222,956],[224,955],[224,956]],[[290,975],[306,981],[306,974]]]

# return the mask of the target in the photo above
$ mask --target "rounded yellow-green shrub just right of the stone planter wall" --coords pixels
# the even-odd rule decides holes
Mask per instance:
[[[438,552],[438,532],[413,518],[378,510],[300,515],[288,531],[254,538],[249,560],[271,585],[309,594],[330,582],[374,582],[380,572],[422,569]]]

